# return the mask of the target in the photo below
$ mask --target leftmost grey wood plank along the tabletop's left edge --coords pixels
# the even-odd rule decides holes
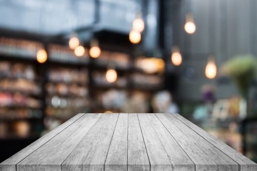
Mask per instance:
[[[6,159],[2,163],[0,163],[0,170],[1,171],[16,171],[16,164],[22,161],[26,156],[43,146],[47,141],[52,139],[58,133],[63,131],[65,128],[69,127],[72,123],[77,121],[80,117],[82,117],[84,113],[79,113],[72,117],[70,120],[65,122],[64,124],[60,125],[59,127],[53,129],[52,131],[48,132],[46,135],[35,141],[34,143],[30,144],[23,150],[17,152],[10,158]]]

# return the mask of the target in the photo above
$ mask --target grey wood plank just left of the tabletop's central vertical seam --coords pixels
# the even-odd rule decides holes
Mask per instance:
[[[128,114],[120,113],[105,161],[105,171],[127,171]]]

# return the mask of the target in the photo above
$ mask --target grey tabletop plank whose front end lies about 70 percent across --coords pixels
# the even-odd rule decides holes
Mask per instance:
[[[187,153],[180,147],[169,131],[154,113],[146,114],[148,120],[155,129],[156,135],[160,139],[167,155],[172,163],[174,171],[194,171],[195,165]]]

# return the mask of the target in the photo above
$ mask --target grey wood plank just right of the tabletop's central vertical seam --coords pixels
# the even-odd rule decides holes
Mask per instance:
[[[128,114],[128,171],[150,171],[150,163],[136,113]]]

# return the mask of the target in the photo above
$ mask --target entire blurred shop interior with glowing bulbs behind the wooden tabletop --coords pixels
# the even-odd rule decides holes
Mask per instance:
[[[257,0],[0,0],[0,162],[77,113],[180,113],[257,162]]]

